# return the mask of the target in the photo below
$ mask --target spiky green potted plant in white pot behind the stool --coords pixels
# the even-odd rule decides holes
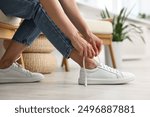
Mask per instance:
[[[101,17],[103,19],[112,19],[113,49],[114,49],[114,55],[115,55],[117,68],[121,68],[121,63],[122,63],[122,56],[121,56],[122,42],[126,39],[133,42],[133,40],[132,40],[133,37],[130,36],[131,32],[134,33],[135,36],[140,37],[143,40],[143,42],[145,43],[145,40],[142,36],[143,31],[142,31],[141,27],[136,26],[135,24],[127,23],[127,18],[129,16],[130,12],[127,12],[127,8],[122,8],[118,15],[112,16],[112,15],[110,15],[107,8],[105,8],[105,10],[101,11]],[[106,56],[106,58],[110,58],[110,57]],[[106,60],[106,62],[108,62],[108,61],[109,60]],[[108,64],[111,66],[110,62],[108,62]]]

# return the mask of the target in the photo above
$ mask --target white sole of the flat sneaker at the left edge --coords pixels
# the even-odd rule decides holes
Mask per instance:
[[[0,84],[2,83],[33,83],[33,82],[40,82],[43,78],[0,78]]]

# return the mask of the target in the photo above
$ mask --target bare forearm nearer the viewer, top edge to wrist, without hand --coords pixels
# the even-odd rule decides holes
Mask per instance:
[[[40,0],[44,9],[55,24],[65,33],[70,39],[76,35],[78,30],[68,19],[58,0]]]

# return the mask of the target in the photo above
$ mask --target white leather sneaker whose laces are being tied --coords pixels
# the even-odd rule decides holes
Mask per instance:
[[[135,75],[100,64],[95,69],[81,68],[78,83],[80,85],[125,84],[133,81]]]

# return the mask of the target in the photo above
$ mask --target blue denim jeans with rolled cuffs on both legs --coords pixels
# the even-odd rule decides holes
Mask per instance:
[[[70,56],[73,50],[70,40],[47,15],[39,0],[1,0],[0,9],[8,16],[25,19],[13,40],[30,45],[43,32],[64,57]]]

